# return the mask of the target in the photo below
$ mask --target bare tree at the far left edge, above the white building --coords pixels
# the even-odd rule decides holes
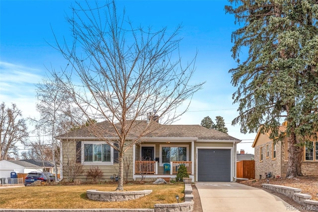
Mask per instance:
[[[7,160],[10,154],[18,155],[16,144],[24,144],[28,136],[25,119],[15,104],[0,105],[0,160]]]

